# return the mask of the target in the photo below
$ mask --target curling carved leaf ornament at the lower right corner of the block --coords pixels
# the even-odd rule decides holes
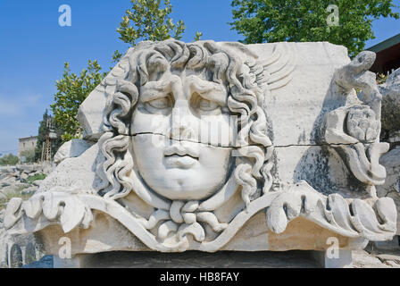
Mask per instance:
[[[349,205],[340,195],[324,196],[301,181],[271,202],[266,218],[268,227],[276,233],[285,231],[287,223],[301,216],[346,237],[388,240],[396,232],[394,204],[390,198],[379,198],[370,206],[357,198]]]

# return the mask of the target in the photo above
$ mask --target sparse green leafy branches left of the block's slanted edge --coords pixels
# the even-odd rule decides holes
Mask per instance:
[[[89,93],[100,84],[105,76],[97,61],[88,61],[87,69],[80,74],[71,72],[70,64],[64,63],[63,79],[56,81],[58,92],[54,96],[54,104],[51,105],[54,120],[63,129],[63,141],[79,138],[81,127],[76,115],[79,105],[86,99]]]

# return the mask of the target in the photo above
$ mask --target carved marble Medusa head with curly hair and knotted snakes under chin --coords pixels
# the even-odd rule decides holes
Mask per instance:
[[[134,191],[154,207],[146,229],[164,243],[221,234],[271,189],[269,64],[244,63],[213,42],[167,41],[130,57],[127,72],[108,80],[116,89],[99,139],[104,198],[129,207]],[[233,209],[218,214],[227,203]]]

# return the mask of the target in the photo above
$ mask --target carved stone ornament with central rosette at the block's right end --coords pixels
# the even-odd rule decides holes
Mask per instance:
[[[337,149],[354,177],[377,198],[375,185],[383,184],[386,178],[379,157],[389,146],[379,142],[382,97],[375,74],[368,71],[374,61],[374,53],[362,52],[335,72],[334,82],[348,100],[326,115],[322,129],[325,142]],[[362,90],[362,101],[354,96],[354,88]]]

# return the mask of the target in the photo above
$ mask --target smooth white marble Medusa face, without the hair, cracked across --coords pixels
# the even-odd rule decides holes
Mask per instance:
[[[234,124],[224,85],[193,71],[165,72],[139,90],[132,115],[138,172],[170,199],[202,199],[227,180]]]

